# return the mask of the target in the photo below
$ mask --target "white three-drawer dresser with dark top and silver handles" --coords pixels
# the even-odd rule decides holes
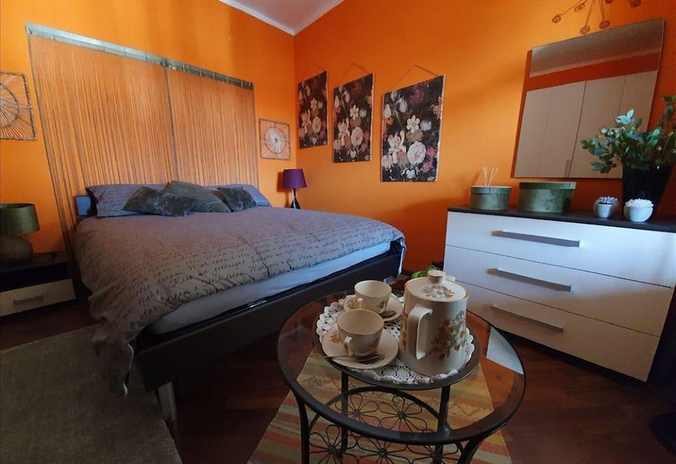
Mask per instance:
[[[676,224],[449,208],[444,271],[494,326],[646,380],[676,285]]]

